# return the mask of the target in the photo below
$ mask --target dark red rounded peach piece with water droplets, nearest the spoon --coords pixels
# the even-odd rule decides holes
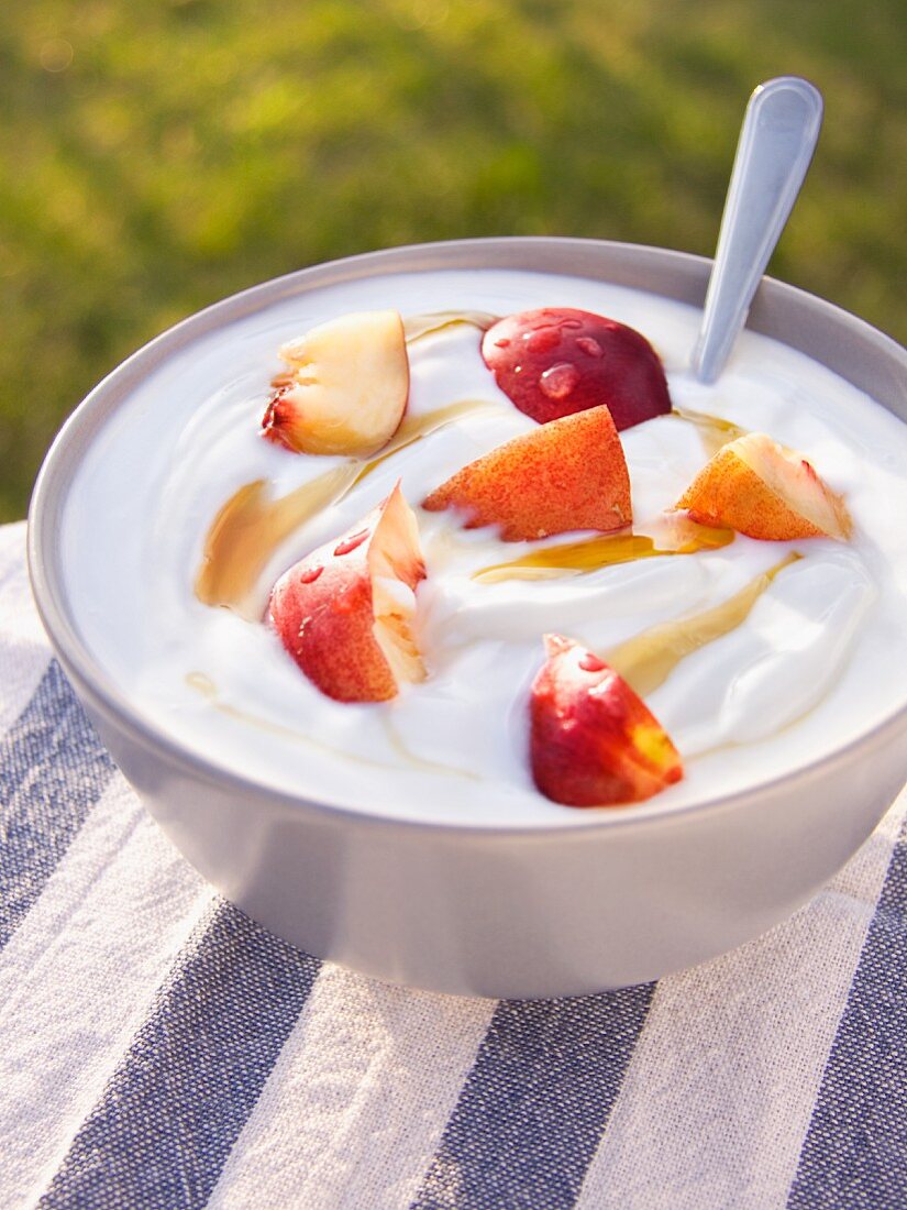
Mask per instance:
[[[671,410],[652,345],[634,328],[591,311],[509,315],[485,333],[481,356],[504,394],[541,425],[602,403],[618,430]]]

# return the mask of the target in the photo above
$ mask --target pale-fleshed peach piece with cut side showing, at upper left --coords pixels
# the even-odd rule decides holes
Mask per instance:
[[[312,328],[281,348],[288,373],[267,405],[268,440],[296,454],[368,457],[406,410],[410,368],[397,311],[363,311]]]

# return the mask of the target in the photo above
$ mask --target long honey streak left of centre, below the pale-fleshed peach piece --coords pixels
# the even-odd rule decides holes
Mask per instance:
[[[485,399],[461,399],[423,416],[406,416],[389,445],[376,457],[351,459],[310,479],[277,500],[268,499],[266,479],[243,484],[221,506],[208,529],[195,594],[203,605],[223,605],[248,621],[260,616],[258,580],[275,551],[291,534],[329,505],[342,500],[357,483],[393,454],[452,420],[493,408]]]

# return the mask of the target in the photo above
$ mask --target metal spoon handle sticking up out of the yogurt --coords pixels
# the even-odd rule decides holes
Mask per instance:
[[[799,76],[761,83],[750,97],[718,231],[693,373],[714,382],[746,322],[813,159],[822,94]]]

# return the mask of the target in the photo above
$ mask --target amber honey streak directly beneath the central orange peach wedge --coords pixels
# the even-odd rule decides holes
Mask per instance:
[[[699,551],[716,551],[734,541],[734,531],[698,525],[689,518],[665,518],[662,537],[648,534],[612,534],[589,537],[580,542],[561,542],[558,546],[532,551],[509,563],[496,563],[473,572],[480,584],[495,584],[502,580],[553,580],[560,576],[585,575],[619,563],[635,563],[665,554],[695,554]],[[664,544],[659,546],[658,542]]]

